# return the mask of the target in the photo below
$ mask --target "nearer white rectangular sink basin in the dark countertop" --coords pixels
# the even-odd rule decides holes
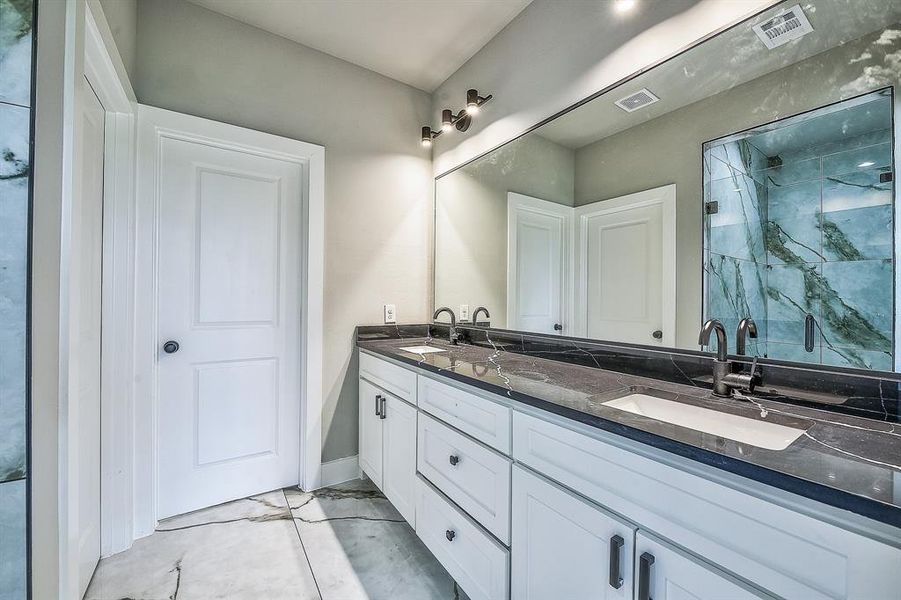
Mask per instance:
[[[785,450],[804,433],[803,429],[795,427],[757,421],[646,394],[631,394],[604,402],[604,406],[767,450]]]

